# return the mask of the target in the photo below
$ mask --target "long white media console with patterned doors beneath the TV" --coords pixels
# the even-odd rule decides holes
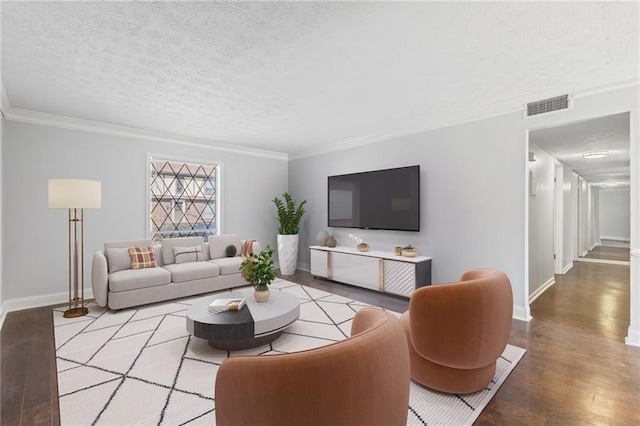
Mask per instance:
[[[314,277],[409,297],[431,285],[431,258],[396,256],[350,247],[311,246],[309,272]]]

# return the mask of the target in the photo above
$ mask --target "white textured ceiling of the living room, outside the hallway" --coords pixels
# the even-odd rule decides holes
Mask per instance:
[[[15,111],[293,157],[638,80],[637,2],[1,7]]]

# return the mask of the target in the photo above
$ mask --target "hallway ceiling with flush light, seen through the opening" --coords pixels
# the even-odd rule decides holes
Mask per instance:
[[[629,114],[586,120],[529,134],[529,141],[582,176],[587,182],[629,185]],[[583,152],[608,151],[598,159],[584,159]]]

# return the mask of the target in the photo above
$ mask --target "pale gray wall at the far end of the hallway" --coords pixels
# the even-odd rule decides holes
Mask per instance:
[[[600,189],[600,238],[629,241],[629,188]]]

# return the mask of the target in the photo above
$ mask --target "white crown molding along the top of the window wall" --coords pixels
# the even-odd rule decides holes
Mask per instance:
[[[61,115],[48,114],[44,112],[31,111],[15,107],[9,107],[6,111],[3,110],[3,112],[7,120],[18,121],[22,123],[39,124],[43,126],[59,127],[62,129],[76,130],[80,132],[99,133],[109,136],[118,136],[151,142],[162,142],[186,146],[190,148],[205,148],[216,151],[226,151],[242,155],[270,158],[274,160],[288,160],[288,156],[286,153],[267,151],[257,148],[248,148],[207,139],[192,138],[189,136],[179,136],[150,130],[142,130],[133,127],[118,126],[115,124],[82,120],[78,118],[65,117]]]

